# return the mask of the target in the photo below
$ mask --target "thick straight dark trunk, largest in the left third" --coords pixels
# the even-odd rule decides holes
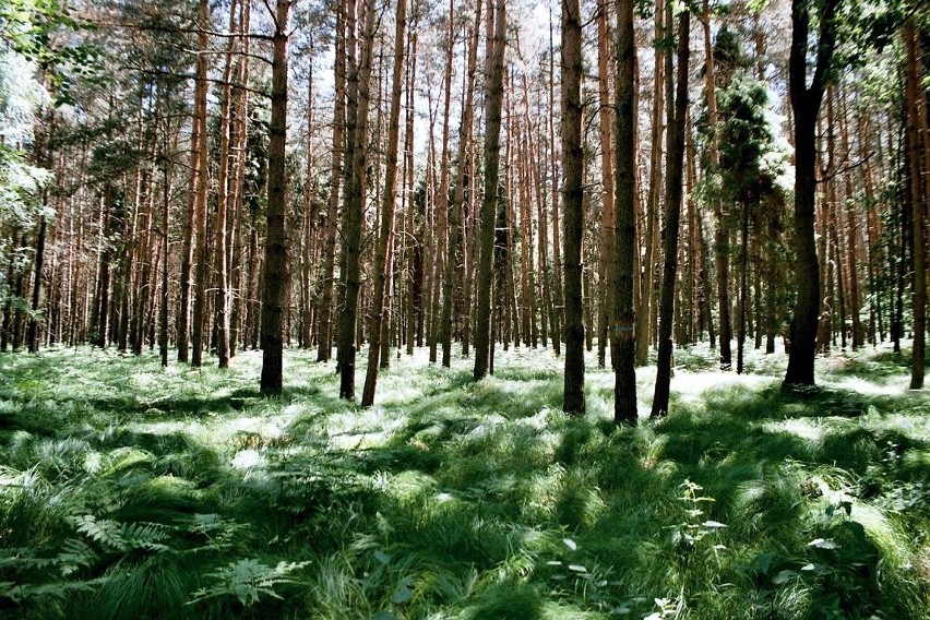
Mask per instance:
[[[287,238],[287,38],[291,0],[275,4],[272,60],[272,118],[269,142],[269,194],[265,220],[264,290],[262,293],[262,377],[265,396],[279,396],[284,383],[284,311],[288,293]]]

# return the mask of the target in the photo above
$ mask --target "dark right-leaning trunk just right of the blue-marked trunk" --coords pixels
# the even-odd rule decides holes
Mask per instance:
[[[669,127],[671,131],[666,178],[666,216],[663,235],[661,295],[659,297],[658,325],[658,368],[656,370],[656,390],[653,398],[652,418],[668,413],[669,388],[671,383],[671,322],[675,315],[675,274],[678,267],[678,229],[681,216],[684,165],[684,126],[688,115],[688,57],[691,14],[684,11],[678,25],[678,75],[675,95],[675,116]]]

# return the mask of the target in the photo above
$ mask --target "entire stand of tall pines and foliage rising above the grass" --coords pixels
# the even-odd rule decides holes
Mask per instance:
[[[930,11],[889,0],[138,0],[0,9],[0,351],[378,370],[494,349],[913,342],[923,382]],[[736,351],[732,350],[734,345]],[[453,350],[453,349],[457,350]]]

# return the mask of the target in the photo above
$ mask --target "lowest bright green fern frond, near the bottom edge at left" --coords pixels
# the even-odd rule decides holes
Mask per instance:
[[[229,562],[226,567],[207,574],[207,576],[216,580],[216,583],[194,592],[190,604],[227,595],[235,596],[245,607],[258,603],[262,595],[279,599],[282,597],[274,592],[274,586],[299,583],[298,580],[288,575],[309,563],[278,562],[277,567],[272,568],[252,558]]]

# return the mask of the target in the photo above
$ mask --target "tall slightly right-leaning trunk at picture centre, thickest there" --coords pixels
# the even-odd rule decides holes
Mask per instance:
[[[503,105],[503,60],[506,47],[506,0],[497,0],[493,13],[490,2],[487,19],[487,57],[485,59],[485,195],[481,200],[479,233],[478,307],[475,321],[475,381],[488,373],[491,354],[491,276],[494,250],[494,218],[500,179],[500,131]]]

